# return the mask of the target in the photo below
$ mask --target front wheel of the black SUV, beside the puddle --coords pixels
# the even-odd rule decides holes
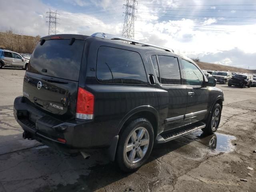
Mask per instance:
[[[206,127],[202,129],[205,134],[211,135],[216,132],[220,124],[221,111],[222,108],[220,104],[216,103],[212,108],[212,112],[207,118]]]

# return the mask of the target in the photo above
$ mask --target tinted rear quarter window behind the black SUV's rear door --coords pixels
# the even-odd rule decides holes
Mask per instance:
[[[106,46],[98,50],[96,76],[100,82],[104,83],[147,83],[140,54]]]

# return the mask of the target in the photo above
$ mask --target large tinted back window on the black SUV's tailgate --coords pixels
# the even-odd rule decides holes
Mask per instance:
[[[36,46],[28,71],[78,81],[84,40],[46,40]],[[44,71],[44,72],[43,72]]]

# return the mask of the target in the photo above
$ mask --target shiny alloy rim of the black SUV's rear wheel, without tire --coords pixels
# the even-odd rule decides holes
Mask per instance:
[[[148,150],[149,134],[144,127],[138,127],[128,136],[125,145],[126,160],[135,164],[142,160]]]

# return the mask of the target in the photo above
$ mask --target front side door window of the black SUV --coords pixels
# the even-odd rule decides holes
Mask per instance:
[[[182,68],[187,85],[202,85],[204,82],[203,74],[194,64],[182,59]]]

